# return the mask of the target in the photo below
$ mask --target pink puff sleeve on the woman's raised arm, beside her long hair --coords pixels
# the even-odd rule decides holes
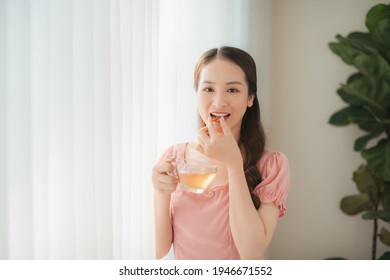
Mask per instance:
[[[274,203],[280,210],[279,217],[286,212],[285,201],[290,189],[290,168],[286,155],[267,151],[260,160],[262,182],[253,193],[261,203]]]

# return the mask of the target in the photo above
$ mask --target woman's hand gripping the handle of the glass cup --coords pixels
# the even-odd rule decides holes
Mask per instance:
[[[171,194],[177,188],[179,177],[175,172],[175,166],[172,159],[166,159],[157,163],[152,170],[152,182],[154,189],[160,194]]]

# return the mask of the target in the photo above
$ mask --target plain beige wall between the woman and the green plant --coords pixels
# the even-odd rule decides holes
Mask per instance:
[[[366,12],[381,2],[272,1],[269,138],[290,160],[292,185],[270,259],[371,256],[371,222],[339,209],[341,198],[356,192],[352,172],[363,160],[353,151],[358,128],[327,123],[344,106],[339,83],[354,71],[328,43],[338,33],[366,31]]]

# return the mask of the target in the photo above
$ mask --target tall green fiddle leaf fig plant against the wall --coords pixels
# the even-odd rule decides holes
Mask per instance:
[[[373,225],[371,259],[377,240],[390,246],[390,4],[373,6],[366,14],[367,32],[336,35],[331,51],[355,68],[337,94],[346,103],[329,119],[335,126],[357,125],[363,134],[354,150],[364,164],[353,172],[357,194],[340,201],[348,215],[362,214]],[[384,226],[378,229],[378,221]],[[390,251],[380,259],[390,259]]]

